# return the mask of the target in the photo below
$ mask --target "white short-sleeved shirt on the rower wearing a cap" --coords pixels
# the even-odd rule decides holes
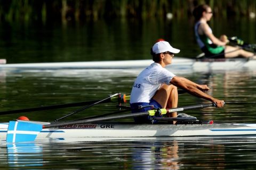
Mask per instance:
[[[149,103],[150,99],[155,95],[158,88],[163,84],[170,84],[175,75],[158,63],[152,63],[143,70],[135,80],[130,103]]]

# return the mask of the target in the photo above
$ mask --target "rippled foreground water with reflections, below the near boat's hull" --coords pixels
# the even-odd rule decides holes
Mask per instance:
[[[7,145],[0,150],[0,155],[1,160],[8,161],[9,167],[33,169],[109,169],[110,166],[112,169],[239,169],[256,165],[255,139],[51,139]]]

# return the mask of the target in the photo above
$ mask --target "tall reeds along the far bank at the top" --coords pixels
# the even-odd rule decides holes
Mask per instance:
[[[191,16],[198,4],[209,4],[214,15],[247,17],[256,13],[255,0],[1,0],[1,21],[80,21],[85,19],[175,18]]]

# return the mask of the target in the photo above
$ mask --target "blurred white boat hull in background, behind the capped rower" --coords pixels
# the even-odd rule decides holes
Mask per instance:
[[[56,63],[20,63],[0,64],[0,69],[143,69],[153,63],[152,60],[95,61],[95,62],[56,62]],[[234,70],[255,69],[256,60],[246,58],[219,58],[195,60],[174,57],[167,69]]]

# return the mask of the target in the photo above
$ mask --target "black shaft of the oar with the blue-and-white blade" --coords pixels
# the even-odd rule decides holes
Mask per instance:
[[[169,112],[169,111],[179,112],[179,111],[185,111],[185,110],[189,110],[189,109],[205,108],[205,107],[211,107],[211,106],[214,106],[214,104],[199,104],[199,105],[177,107],[177,108],[166,109],[166,110],[167,110],[167,112]],[[82,124],[82,123],[109,121],[109,120],[117,120],[117,119],[121,119],[121,118],[130,118],[130,117],[138,117],[138,116],[145,116],[145,115],[149,115],[149,112],[130,113],[130,114],[124,114],[124,115],[115,115],[115,116],[91,118],[91,119],[88,119],[88,120],[81,120],[81,121],[52,123],[52,124],[43,125],[43,129],[53,128],[53,127],[58,127],[58,126],[66,126],[66,125],[71,125],[71,124]]]

